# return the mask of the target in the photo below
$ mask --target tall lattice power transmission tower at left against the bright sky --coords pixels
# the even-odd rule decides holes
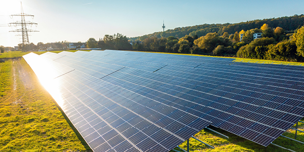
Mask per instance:
[[[21,21],[16,21],[16,22],[13,22],[13,23],[9,23],[9,26],[13,25],[13,26],[16,27],[16,26],[20,26],[21,25],[21,28],[20,29],[16,29],[16,30],[12,30],[10,32],[22,32],[22,44],[23,44],[23,46],[24,45],[29,45],[29,40],[28,40],[28,34],[27,34],[27,32],[39,32],[39,31],[27,29],[27,25],[29,25],[29,26],[32,26],[32,25],[37,26],[37,23],[33,23],[33,22],[30,22],[30,21],[25,21],[25,16],[30,16],[30,17],[34,18],[34,15],[23,13],[22,2],[21,2],[21,14],[11,15],[11,17],[13,17],[13,16],[21,16]]]

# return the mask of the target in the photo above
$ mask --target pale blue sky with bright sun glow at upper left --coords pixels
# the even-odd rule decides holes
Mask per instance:
[[[21,21],[20,0],[0,0],[0,46],[14,47],[22,43],[21,27],[8,23]],[[28,29],[29,42],[86,42],[90,37],[122,33],[141,36],[176,27],[216,23],[239,23],[255,19],[278,18],[304,14],[303,0],[268,1],[118,1],[118,0],[23,0],[23,11],[34,15],[27,21],[38,23]]]

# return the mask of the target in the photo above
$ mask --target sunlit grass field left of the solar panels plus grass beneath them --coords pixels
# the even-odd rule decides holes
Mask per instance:
[[[12,52],[6,56],[18,58],[22,54]],[[0,74],[0,151],[91,151],[23,58],[0,63]],[[204,129],[195,137],[215,149],[191,138],[190,151],[287,151],[274,145],[264,147],[227,131],[211,128],[230,138]],[[298,128],[304,130],[304,124],[299,123]],[[289,129],[283,135],[294,138],[294,133]],[[298,132],[297,140],[304,141],[304,133]],[[284,137],[273,143],[304,151],[303,144]],[[186,142],[179,146],[186,149]]]

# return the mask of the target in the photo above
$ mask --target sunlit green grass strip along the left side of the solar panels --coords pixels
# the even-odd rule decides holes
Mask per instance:
[[[91,151],[24,59],[0,66],[0,151]]]

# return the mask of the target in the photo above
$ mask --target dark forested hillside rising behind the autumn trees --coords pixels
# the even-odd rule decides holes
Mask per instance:
[[[129,40],[143,41],[148,37],[183,37],[185,35],[193,36],[195,34],[200,36],[204,36],[210,32],[217,32],[219,35],[222,35],[224,32],[228,32],[229,34],[233,34],[236,31],[241,30],[249,30],[254,28],[260,28],[263,24],[268,24],[269,27],[276,28],[282,27],[286,31],[293,32],[293,30],[297,29],[300,26],[304,25],[304,15],[294,15],[290,17],[280,17],[280,18],[271,18],[271,19],[262,19],[262,20],[253,20],[241,23],[225,23],[225,24],[203,24],[203,25],[195,25],[195,26],[187,26],[187,27],[177,27],[174,29],[168,29],[165,32],[154,32],[151,34],[146,34],[143,36],[137,37],[129,37]]]

